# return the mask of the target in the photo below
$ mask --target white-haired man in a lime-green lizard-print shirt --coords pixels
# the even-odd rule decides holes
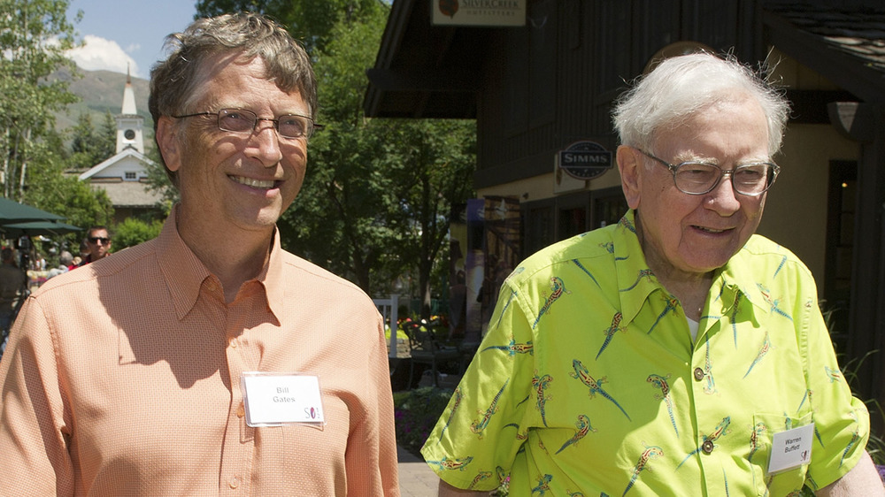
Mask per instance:
[[[812,273],[754,234],[788,111],[710,54],[620,98],[630,210],[504,281],[422,448],[441,495],[883,495]]]

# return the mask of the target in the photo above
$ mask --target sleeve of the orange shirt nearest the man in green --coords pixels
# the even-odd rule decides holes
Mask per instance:
[[[378,338],[368,353],[365,412],[348,435],[348,495],[399,495],[393,394],[390,390],[384,324],[378,316]]]

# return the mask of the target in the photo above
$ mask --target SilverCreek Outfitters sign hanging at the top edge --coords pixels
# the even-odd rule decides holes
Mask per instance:
[[[433,24],[525,26],[527,0],[430,0]]]

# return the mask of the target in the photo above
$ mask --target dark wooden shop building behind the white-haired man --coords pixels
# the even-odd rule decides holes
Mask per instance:
[[[656,58],[703,45],[776,64],[793,103],[781,176],[758,232],[812,269],[835,309],[843,363],[885,405],[885,6],[859,0],[514,0],[525,22],[435,24],[453,0],[395,0],[373,68],[370,117],[476,119],[480,196],[519,200],[522,247],[623,214],[617,168],[590,180],[558,152],[614,151],[612,101]],[[465,9],[476,2],[461,0]]]

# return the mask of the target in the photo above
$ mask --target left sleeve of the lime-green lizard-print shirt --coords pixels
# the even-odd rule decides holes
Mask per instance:
[[[531,324],[504,283],[489,332],[421,454],[451,486],[488,491],[510,473],[536,417]]]

